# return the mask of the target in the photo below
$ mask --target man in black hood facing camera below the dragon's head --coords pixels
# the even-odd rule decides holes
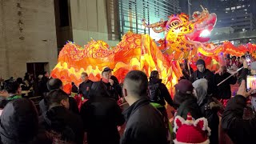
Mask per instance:
[[[206,80],[208,81],[207,93],[210,95],[214,94],[214,90],[216,87],[214,84],[214,74],[210,70],[206,69],[206,62],[204,60],[198,59],[196,65],[198,70],[194,71],[190,81],[194,82],[198,79],[206,78]]]

